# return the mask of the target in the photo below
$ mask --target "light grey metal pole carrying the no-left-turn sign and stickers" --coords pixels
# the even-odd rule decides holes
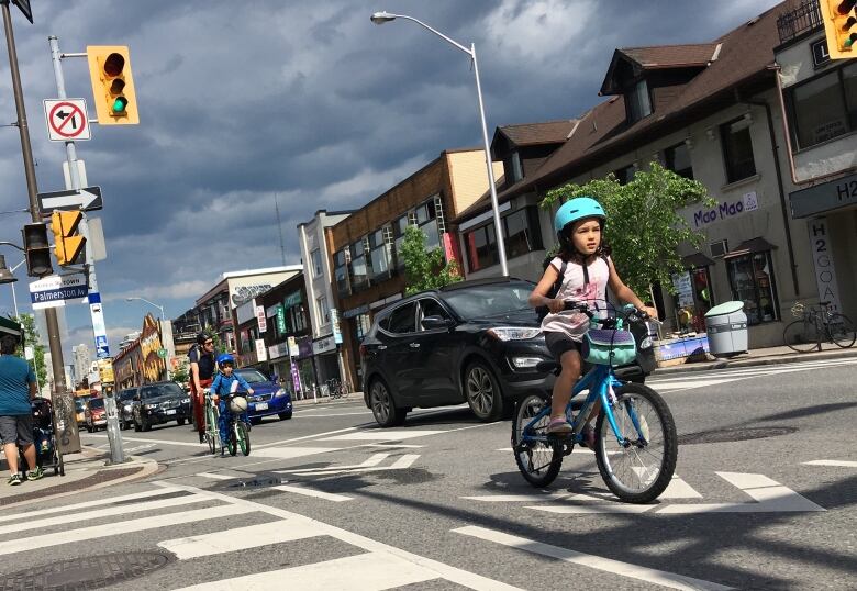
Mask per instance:
[[[63,76],[63,57],[59,53],[59,40],[55,35],[47,37],[51,45],[51,60],[54,63],[54,76],[56,78],[56,92],[57,98],[65,99],[66,97],[66,81]],[[84,54],[86,55],[86,54]],[[76,191],[81,189],[80,175],[77,168],[77,149],[75,143],[66,142],[66,159],[68,160],[68,177],[71,180],[71,187]],[[92,317],[92,333],[96,341],[96,352],[100,352],[99,335],[103,334],[107,341],[107,331],[104,330],[103,313],[101,311],[101,297],[98,290],[98,280],[96,278],[96,260],[92,256],[92,242],[89,239],[89,225],[87,223],[87,216],[84,214],[84,219],[79,225],[80,235],[86,238],[86,272],[87,285],[89,286],[89,312]],[[96,294],[98,301],[92,301],[92,296]],[[122,449],[122,433],[119,428],[119,413],[116,409],[116,400],[113,397],[112,382],[108,386],[102,378],[102,393],[104,394],[104,411],[107,414],[107,431],[108,439],[110,442],[110,462],[122,464],[125,461],[124,451]]]

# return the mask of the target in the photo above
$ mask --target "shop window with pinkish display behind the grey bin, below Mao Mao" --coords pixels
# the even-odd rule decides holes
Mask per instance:
[[[777,287],[770,250],[750,253],[726,260],[732,299],[744,302],[747,324],[779,320]]]

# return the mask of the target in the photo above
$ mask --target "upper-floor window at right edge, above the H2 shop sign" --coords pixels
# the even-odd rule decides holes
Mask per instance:
[[[799,148],[857,130],[857,64],[795,86],[790,98]]]

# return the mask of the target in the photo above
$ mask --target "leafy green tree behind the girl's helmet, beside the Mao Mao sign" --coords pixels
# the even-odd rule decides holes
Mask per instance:
[[[611,172],[586,185],[569,183],[547,193],[545,209],[575,197],[592,197],[608,214],[603,239],[613,249],[612,258],[622,280],[636,293],[647,293],[660,283],[675,291],[671,276],[683,270],[680,245],[699,248],[701,231],[690,227],[678,211],[693,203],[714,207],[704,185],[686,179],[652,163],[648,171],[637,171],[621,185]]]

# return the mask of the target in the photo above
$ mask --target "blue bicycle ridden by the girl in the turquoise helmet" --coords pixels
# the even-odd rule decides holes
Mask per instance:
[[[571,453],[575,444],[583,441],[582,431],[587,419],[600,404],[596,420],[596,461],[601,478],[608,488],[622,501],[647,503],[667,488],[672,479],[678,457],[676,424],[667,403],[642,383],[620,380],[613,370],[613,339],[616,347],[636,347],[630,333],[623,331],[627,322],[643,322],[646,316],[634,306],[625,306],[624,314],[599,319],[586,303],[566,302],[566,310],[587,314],[593,325],[600,326],[601,336],[613,335],[608,341],[601,358],[590,356],[594,363],[575,384],[574,397],[589,391],[580,411],[572,416],[571,402],[566,409],[572,432],[566,436],[547,434],[550,420],[550,400],[544,395],[530,394],[515,406],[512,423],[512,449],[517,468],[523,477],[537,488],[549,486],[559,473],[563,458]],[[596,352],[598,353],[598,352]],[[633,355],[633,350],[632,350]],[[592,358],[598,358],[594,361]],[[542,371],[559,372],[559,364],[543,361]]]

